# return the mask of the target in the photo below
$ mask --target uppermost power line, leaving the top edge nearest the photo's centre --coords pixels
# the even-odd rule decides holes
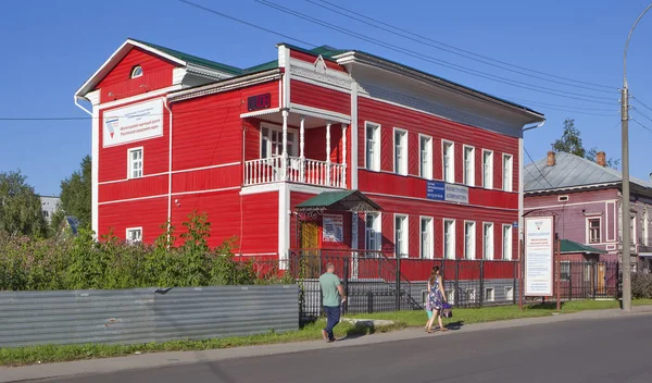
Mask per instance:
[[[599,85],[599,84],[591,84],[591,83],[580,82],[580,81],[577,81],[577,79],[572,79],[572,78],[565,78],[565,77],[561,77],[561,76],[555,76],[555,75],[547,74],[547,73],[543,73],[543,72],[538,72],[538,71],[529,70],[529,69],[522,67],[522,66],[518,66],[518,65],[510,64],[510,63],[506,63],[504,61],[494,60],[494,59],[491,59],[491,58],[488,58],[488,57],[485,57],[485,55],[481,55],[481,54],[473,53],[473,52],[466,51],[464,49],[460,49],[460,48],[450,46],[448,44],[430,39],[430,38],[425,37],[423,35],[411,33],[411,32],[402,29],[402,28],[400,28],[400,27],[398,27],[396,25],[384,23],[384,22],[381,22],[381,21],[379,21],[377,18],[373,18],[373,17],[369,17],[369,16],[360,14],[358,12],[351,11],[349,9],[346,9],[343,7],[334,4],[334,3],[325,1],[325,0],[319,0],[319,1],[323,2],[323,3],[329,4],[329,5],[331,5],[331,7],[336,8],[336,9],[333,9],[333,8],[324,5],[324,4],[319,4],[319,3],[317,3],[314,0],[305,0],[305,1],[308,1],[308,2],[310,2],[312,4],[314,4],[314,5],[321,7],[323,9],[329,10],[329,11],[331,11],[334,13],[337,13],[339,15],[342,15],[344,17],[349,17],[349,18],[352,18],[354,21],[361,22],[361,23],[366,24],[368,26],[372,26],[374,28],[377,28],[377,29],[380,29],[380,30],[385,30],[385,32],[390,33],[392,35],[406,38],[406,39],[409,39],[411,41],[414,41],[414,42],[417,42],[417,44],[422,44],[422,45],[425,45],[425,46],[428,46],[428,47],[431,47],[431,48],[435,48],[435,49],[439,49],[439,50],[442,50],[444,52],[449,52],[451,54],[463,57],[463,58],[466,58],[466,59],[469,59],[469,60],[481,62],[484,64],[491,65],[491,66],[501,69],[503,71],[509,71],[509,72],[517,73],[517,74],[521,74],[521,75],[524,75],[524,76],[529,76],[529,77],[534,77],[534,78],[538,78],[538,79],[541,79],[541,81],[546,81],[546,82],[550,82],[550,83],[555,83],[555,84],[560,84],[560,85],[564,85],[564,86],[572,86],[572,87],[582,88],[582,89],[588,89],[588,90],[593,90],[593,91],[612,92],[612,91],[616,90],[615,87],[611,87],[611,86],[606,86],[606,85]],[[338,9],[341,10],[341,11],[338,11]],[[346,12],[349,12],[351,14],[355,14],[355,15],[358,15],[360,17],[352,16],[351,14],[347,14]],[[384,26],[379,26],[379,25],[376,25],[374,23],[369,23],[369,22],[365,21],[364,18],[371,20],[374,23],[380,24],[380,25],[384,25]],[[403,33],[409,34],[409,35],[405,35],[403,33],[399,33],[397,30],[403,32]],[[410,35],[412,35],[412,36],[410,36]],[[421,38],[423,40],[431,41],[431,42],[426,42],[426,41],[418,40],[418,39],[414,38],[413,36],[416,36],[416,37],[418,37],[418,38]],[[443,46],[446,48],[442,48],[441,46]],[[460,53],[460,52],[463,52],[463,53]],[[505,65],[506,66],[516,67],[518,70],[513,70],[513,69],[510,69],[510,67],[505,67]],[[564,83],[562,81],[550,79],[550,78],[541,77],[541,76],[538,76],[538,75],[529,74],[529,73],[526,73],[526,72],[523,72],[523,71],[528,71],[528,72],[532,72],[532,73],[542,74],[544,76],[560,78],[560,79],[563,79],[565,82],[573,82],[573,83],[577,83],[577,84],[587,84],[587,85],[591,85],[592,87],[582,86],[582,85],[576,85],[576,84],[567,84],[567,83]],[[609,88],[611,90],[595,89],[595,87]]]

